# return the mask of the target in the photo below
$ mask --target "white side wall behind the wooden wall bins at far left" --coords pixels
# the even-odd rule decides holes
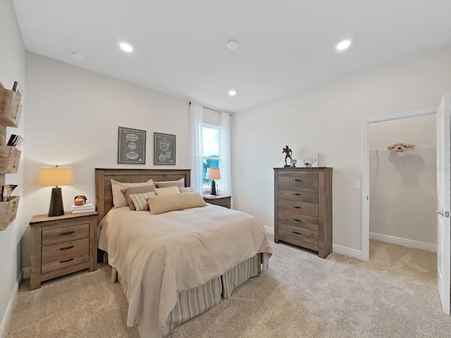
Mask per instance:
[[[1,0],[0,3],[0,81],[7,89],[12,89],[14,81],[18,81],[25,89],[22,118],[18,128],[6,128],[7,134],[24,134],[25,99],[25,48],[18,27],[16,12],[12,0]],[[8,139],[8,138],[7,138]],[[20,195],[18,214],[6,230],[0,231],[0,337],[3,336],[11,314],[14,298],[20,277],[20,238],[23,227],[23,156],[20,158],[19,172],[7,174],[6,184],[18,184],[14,195]]]

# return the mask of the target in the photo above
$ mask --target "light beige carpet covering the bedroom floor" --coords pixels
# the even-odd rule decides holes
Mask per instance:
[[[171,338],[451,337],[441,310],[435,253],[371,242],[369,262],[327,259],[273,244],[264,277],[175,328]],[[20,286],[5,337],[139,337],[127,327],[127,301],[108,265]]]

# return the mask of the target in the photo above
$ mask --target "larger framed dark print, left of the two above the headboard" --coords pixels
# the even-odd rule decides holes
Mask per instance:
[[[118,127],[118,164],[146,164],[146,131]]]

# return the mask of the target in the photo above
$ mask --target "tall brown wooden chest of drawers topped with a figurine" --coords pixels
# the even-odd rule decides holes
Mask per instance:
[[[332,168],[274,168],[274,242],[332,252]]]

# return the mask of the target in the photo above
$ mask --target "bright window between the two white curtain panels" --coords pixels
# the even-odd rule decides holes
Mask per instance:
[[[206,179],[206,168],[219,168],[219,161],[221,154],[219,154],[219,149],[221,142],[221,127],[216,125],[208,125],[206,123],[202,124],[202,149],[203,149],[203,162],[204,168],[202,177],[204,178],[202,182],[202,187],[204,191],[209,191],[211,187],[210,180]],[[216,181],[217,183],[218,181]]]

